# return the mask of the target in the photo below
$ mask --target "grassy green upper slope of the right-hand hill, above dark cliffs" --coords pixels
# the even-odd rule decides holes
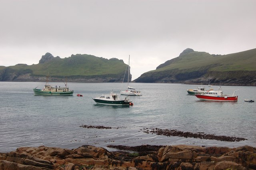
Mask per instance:
[[[202,67],[209,67],[210,71],[255,71],[256,49],[228,55],[212,56],[206,52],[191,52],[179,57],[179,60],[160,69],[149,72],[172,69],[190,69],[196,71]]]

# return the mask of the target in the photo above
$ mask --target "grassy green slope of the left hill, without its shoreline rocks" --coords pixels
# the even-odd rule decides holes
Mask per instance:
[[[54,58],[42,64],[10,66],[14,70],[30,69],[33,75],[104,75],[124,73],[126,64],[119,59],[105,59],[94,55],[76,54],[60,59]]]

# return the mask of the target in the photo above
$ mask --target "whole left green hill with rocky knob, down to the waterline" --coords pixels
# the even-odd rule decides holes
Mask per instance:
[[[0,66],[0,81],[44,81],[42,77],[49,74],[52,81],[65,77],[77,82],[121,82],[125,71],[128,72],[126,67],[123,60],[116,58],[76,54],[61,59],[46,53],[38,64]]]

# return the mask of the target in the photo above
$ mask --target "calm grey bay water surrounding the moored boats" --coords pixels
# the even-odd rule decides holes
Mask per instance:
[[[256,147],[256,103],[244,102],[244,99],[255,100],[256,87],[222,86],[225,94],[232,95],[239,89],[236,91],[238,102],[209,102],[187,95],[186,89],[195,89],[197,85],[130,83],[143,95],[130,97],[133,106],[120,107],[96,105],[92,98],[110,91],[119,93],[126,88],[122,83],[68,83],[74,96],[67,97],[34,96],[33,88],[37,86],[42,88],[44,83],[0,82],[0,152],[10,152],[21,146],[72,149],[83,144],[104,148],[109,144]],[[218,86],[211,88],[217,90]],[[84,97],[77,97],[77,93]],[[112,129],[90,129],[80,125]],[[159,136],[146,134],[143,128],[204,132],[248,140],[222,142]]]

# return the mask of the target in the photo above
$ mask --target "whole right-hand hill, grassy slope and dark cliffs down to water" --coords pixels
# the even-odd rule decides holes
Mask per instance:
[[[211,55],[185,49],[178,57],[148,71],[134,82],[256,85],[256,49]]]

